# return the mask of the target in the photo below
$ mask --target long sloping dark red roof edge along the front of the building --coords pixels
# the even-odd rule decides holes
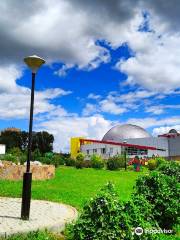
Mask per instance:
[[[81,145],[83,145],[84,142],[104,143],[104,144],[111,144],[111,145],[116,145],[116,146],[136,147],[137,149],[149,149],[149,150],[164,151],[164,149],[158,149],[156,147],[143,146],[143,145],[136,145],[136,144],[129,144],[129,143],[119,143],[119,142],[112,142],[112,141],[101,141],[101,140],[95,140],[95,139],[80,139],[80,144]]]

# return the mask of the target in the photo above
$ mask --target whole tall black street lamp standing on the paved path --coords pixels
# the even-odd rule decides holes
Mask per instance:
[[[28,135],[28,155],[26,163],[26,172],[23,175],[23,189],[22,189],[22,205],[21,205],[21,219],[29,220],[30,202],[31,202],[31,182],[32,173],[30,172],[31,152],[32,152],[32,125],[33,125],[33,110],[34,110],[34,87],[35,76],[37,70],[45,63],[45,60],[33,55],[24,58],[24,62],[32,71],[32,85],[31,85],[31,105],[29,118],[29,135]]]

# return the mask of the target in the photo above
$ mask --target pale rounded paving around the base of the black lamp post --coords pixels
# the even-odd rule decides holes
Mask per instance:
[[[0,197],[0,236],[49,229],[62,232],[65,224],[77,219],[71,206],[49,201],[31,200],[30,219],[20,219],[21,199]]]

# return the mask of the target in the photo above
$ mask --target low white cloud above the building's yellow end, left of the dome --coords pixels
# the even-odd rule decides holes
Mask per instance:
[[[46,130],[55,136],[54,150],[70,150],[71,137],[102,139],[113,123],[101,115],[91,117],[55,117],[36,124],[38,130]]]

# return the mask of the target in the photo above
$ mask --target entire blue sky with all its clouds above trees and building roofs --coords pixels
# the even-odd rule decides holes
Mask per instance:
[[[101,139],[116,124],[180,131],[173,2],[164,10],[156,1],[0,3],[0,128],[28,129],[31,72],[23,57],[37,54],[46,64],[36,77],[34,130],[53,133],[55,151],[68,151],[72,136]]]

